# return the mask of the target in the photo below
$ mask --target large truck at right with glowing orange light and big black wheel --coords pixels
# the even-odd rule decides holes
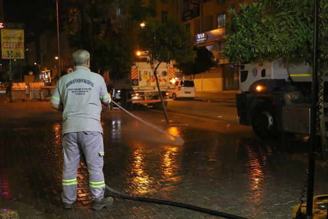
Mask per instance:
[[[312,66],[309,63],[295,66],[273,61],[245,64],[239,69],[241,93],[236,95],[236,103],[240,124],[252,125],[262,140],[276,140],[282,133],[310,134]],[[326,77],[321,79],[322,85],[328,81]],[[326,89],[320,89],[319,95],[324,98],[320,123],[326,133]]]

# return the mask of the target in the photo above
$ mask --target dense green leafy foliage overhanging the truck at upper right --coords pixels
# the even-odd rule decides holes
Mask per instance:
[[[231,63],[272,61],[282,58],[285,63],[312,61],[314,1],[262,0],[234,9],[227,25],[226,47],[223,54]],[[321,1],[320,62],[328,55],[328,3]]]

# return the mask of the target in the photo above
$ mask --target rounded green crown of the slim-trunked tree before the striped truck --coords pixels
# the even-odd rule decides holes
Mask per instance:
[[[139,38],[151,63],[190,62],[196,55],[189,30],[171,17],[167,22],[148,21],[140,30]]]

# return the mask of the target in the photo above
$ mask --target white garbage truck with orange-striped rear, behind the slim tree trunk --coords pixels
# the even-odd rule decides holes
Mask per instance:
[[[119,101],[122,107],[133,108],[134,105],[153,106],[155,109],[162,109],[158,96],[154,66],[147,62],[148,56],[142,52],[137,57],[137,62],[131,68],[131,74],[127,74],[123,79],[110,81],[112,96]],[[172,62],[161,63],[157,68],[158,83],[163,96],[165,106],[172,101],[170,95],[175,86],[175,68]]]

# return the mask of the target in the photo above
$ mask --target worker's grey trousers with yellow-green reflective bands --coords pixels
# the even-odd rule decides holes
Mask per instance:
[[[87,161],[92,201],[103,200],[105,192],[103,135],[95,131],[66,133],[63,136],[63,152],[63,193],[61,194],[63,202],[72,204],[76,201],[76,174],[82,153]]]

